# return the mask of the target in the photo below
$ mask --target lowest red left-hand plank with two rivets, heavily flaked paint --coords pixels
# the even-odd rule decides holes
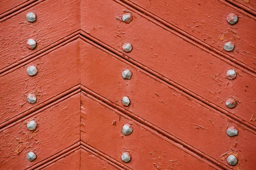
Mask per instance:
[[[34,131],[26,127],[30,120],[38,123]],[[0,167],[26,169],[79,140],[80,94],[76,94],[1,132]],[[29,151],[36,154],[35,161],[27,160]]]

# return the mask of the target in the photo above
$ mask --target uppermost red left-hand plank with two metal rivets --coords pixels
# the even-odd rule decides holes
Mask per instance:
[[[79,30],[78,9],[79,0],[61,3],[47,0],[1,22],[0,69]],[[28,12],[36,14],[36,22],[26,21]],[[33,50],[26,46],[29,38],[37,42]]]

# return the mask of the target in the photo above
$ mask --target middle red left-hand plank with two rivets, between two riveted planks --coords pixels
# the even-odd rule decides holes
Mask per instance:
[[[0,123],[78,85],[78,56],[79,41],[75,40],[0,77]],[[26,72],[30,65],[35,65],[38,69],[38,73],[33,77]],[[35,104],[26,100],[30,93],[37,96]]]

